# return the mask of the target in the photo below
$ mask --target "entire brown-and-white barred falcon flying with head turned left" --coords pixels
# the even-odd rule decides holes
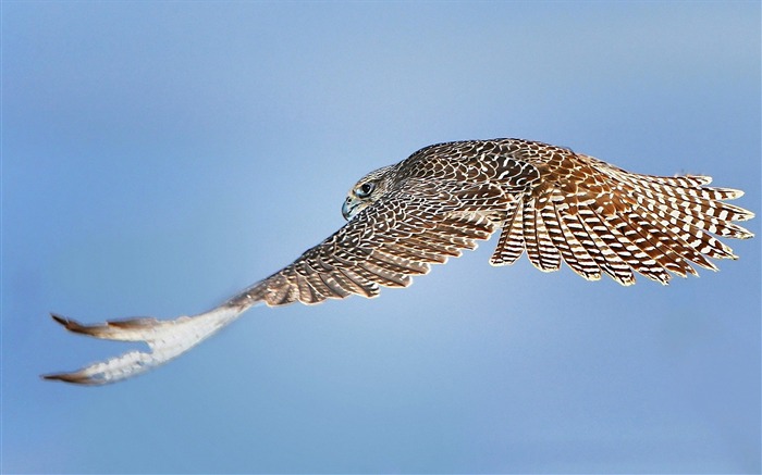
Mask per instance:
[[[724,201],[740,190],[708,187],[709,176],[652,176],[567,148],[523,139],[439,143],[370,172],[349,190],[347,223],[294,262],[197,315],[139,317],[83,325],[57,314],[67,330],[144,341],[131,351],[72,373],[42,376],[102,385],[145,373],[188,351],[250,307],[315,304],[381,287],[407,287],[500,230],[492,265],[526,252],[540,271],[565,262],[588,280],[603,274],[635,284],[639,273],[667,284],[672,274],[716,271],[710,259],[737,259],[717,237],[753,235],[733,222],[754,214]]]

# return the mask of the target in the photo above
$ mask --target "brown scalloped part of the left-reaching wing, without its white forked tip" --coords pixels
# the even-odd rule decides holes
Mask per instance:
[[[477,240],[488,239],[495,229],[494,223],[472,212],[477,196],[469,196],[468,212],[463,212],[453,209],[453,200],[442,189],[435,190],[437,199],[420,190],[410,191],[402,188],[390,192],[229,304],[317,303],[353,293],[373,297],[378,286],[407,287],[413,276],[429,272],[429,264],[444,263],[450,257],[460,255],[463,249],[475,249]],[[489,200],[495,201],[493,193]],[[500,207],[505,208],[503,203]]]

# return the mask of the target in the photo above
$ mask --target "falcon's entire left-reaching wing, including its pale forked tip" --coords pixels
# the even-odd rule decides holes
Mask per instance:
[[[52,315],[71,332],[109,340],[145,341],[151,352],[131,351],[76,372],[42,377],[102,385],[136,376],[186,352],[259,302],[312,304],[353,293],[376,297],[380,286],[406,287],[411,276],[428,273],[429,264],[445,263],[447,258],[460,255],[463,249],[475,249],[477,240],[488,239],[494,232],[494,223],[481,214],[456,211],[478,208],[479,199],[465,192],[445,197],[431,187],[427,190],[422,183],[416,184],[413,193],[413,185],[390,191],[291,265],[209,312],[171,321],[130,318],[97,325]],[[464,202],[471,208],[464,207]]]

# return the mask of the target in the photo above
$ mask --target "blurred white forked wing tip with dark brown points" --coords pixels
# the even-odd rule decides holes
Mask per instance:
[[[128,318],[96,325],[51,314],[67,330],[116,341],[145,341],[150,352],[130,351],[72,373],[42,375],[45,379],[99,386],[137,376],[185,353],[236,320],[247,308],[220,305],[206,313],[170,321]]]

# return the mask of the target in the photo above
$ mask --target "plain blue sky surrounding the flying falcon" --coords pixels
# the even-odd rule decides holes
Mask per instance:
[[[662,287],[493,268],[256,308],[148,375],[85,322],[207,310],[433,142],[700,173],[759,213],[759,2],[3,2],[2,472],[759,473],[760,238]],[[760,220],[748,223],[760,233]]]

